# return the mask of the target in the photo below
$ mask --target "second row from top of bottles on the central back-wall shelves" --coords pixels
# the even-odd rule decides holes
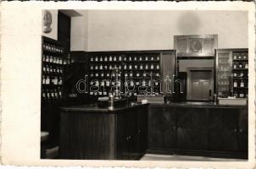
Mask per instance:
[[[122,66],[119,64],[114,64],[114,65],[103,65],[103,64],[100,64],[100,65],[91,65],[90,66],[90,69],[91,70],[112,70],[113,68],[118,68],[118,69],[122,69]],[[131,69],[148,69],[148,70],[153,70],[153,69],[157,69],[159,70],[160,66],[159,66],[159,63],[158,64],[124,64],[123,66],[124,70],[131,70]]]

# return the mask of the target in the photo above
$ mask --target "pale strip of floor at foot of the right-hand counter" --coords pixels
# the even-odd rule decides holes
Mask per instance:
[[[189,155],[154,155],[145,154],[141,161],[245,161],[240,159],[210,158],[204,156]]]

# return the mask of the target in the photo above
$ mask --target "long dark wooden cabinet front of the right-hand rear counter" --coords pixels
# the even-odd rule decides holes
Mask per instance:
[[[149,106],[151,153],[248,156],[248,109],[220,106]],[[203,153],[203,154],[202,154]],[[228,155],[227,155],[228,154]]]

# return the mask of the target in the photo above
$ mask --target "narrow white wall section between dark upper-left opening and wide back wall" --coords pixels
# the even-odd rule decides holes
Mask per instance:
[[[70,51],[88,51],[88,11],[77,12],[82,16],[71,18]]]

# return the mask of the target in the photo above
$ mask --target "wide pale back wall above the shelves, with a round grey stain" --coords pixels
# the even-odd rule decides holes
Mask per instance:
[[[88,51],[173,49],[174,35],[218,34],[219,48],[248,47],[243,11],[90,10]]]

